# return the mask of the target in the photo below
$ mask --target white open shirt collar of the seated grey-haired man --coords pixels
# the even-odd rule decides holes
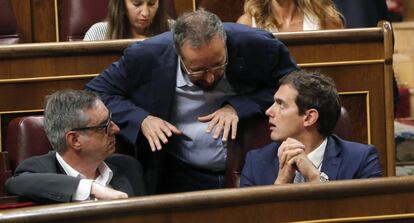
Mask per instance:
[[[59,164],[62,166],[63,170],[66,172],[68,176],[80,178],[80,179],[87,179],[83,174],[79,173],[77,170],[73,169],[59,154],[56,153],[56,159],[58,160]],[[107,186],[109,182],[111,182],[113,177],[113,172],[105,162],[102,162],[99,167],[99,176],[94,179],[95,181],[99,182],[101,185]],[[93,180],[93,179],[92,179]]]

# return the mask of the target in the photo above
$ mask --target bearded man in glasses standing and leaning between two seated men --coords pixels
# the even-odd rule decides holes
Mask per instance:
[[[239,120],[263,115],[279,78],[296,69],[271,33],[198,10],[128,47],[86,87],[136,146],[150,193],[192,191],[224,187]]]

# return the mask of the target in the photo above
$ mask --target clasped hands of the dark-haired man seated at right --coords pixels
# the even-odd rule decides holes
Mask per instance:
[[[287,138],[277,152],[279,157],[278,176],[274,184],[293,183],[296,170],[307,182],[319,182],[320,171],[305,153],[305,146],[296,139]]]

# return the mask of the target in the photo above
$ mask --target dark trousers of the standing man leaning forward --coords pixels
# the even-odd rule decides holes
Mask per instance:
[[[160,193],[224,188],[225,171],[211,171],[189,165],[167,155],[160,179]]]

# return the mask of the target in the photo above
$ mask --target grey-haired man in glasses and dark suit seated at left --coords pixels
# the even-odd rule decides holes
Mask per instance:
[[[55,151],[23,161],[6,182],[8,194],[46,202],[145,194],[138,161],[113,154],[119,128],[99,96],[80,90],[50,95],[44,126]]]

